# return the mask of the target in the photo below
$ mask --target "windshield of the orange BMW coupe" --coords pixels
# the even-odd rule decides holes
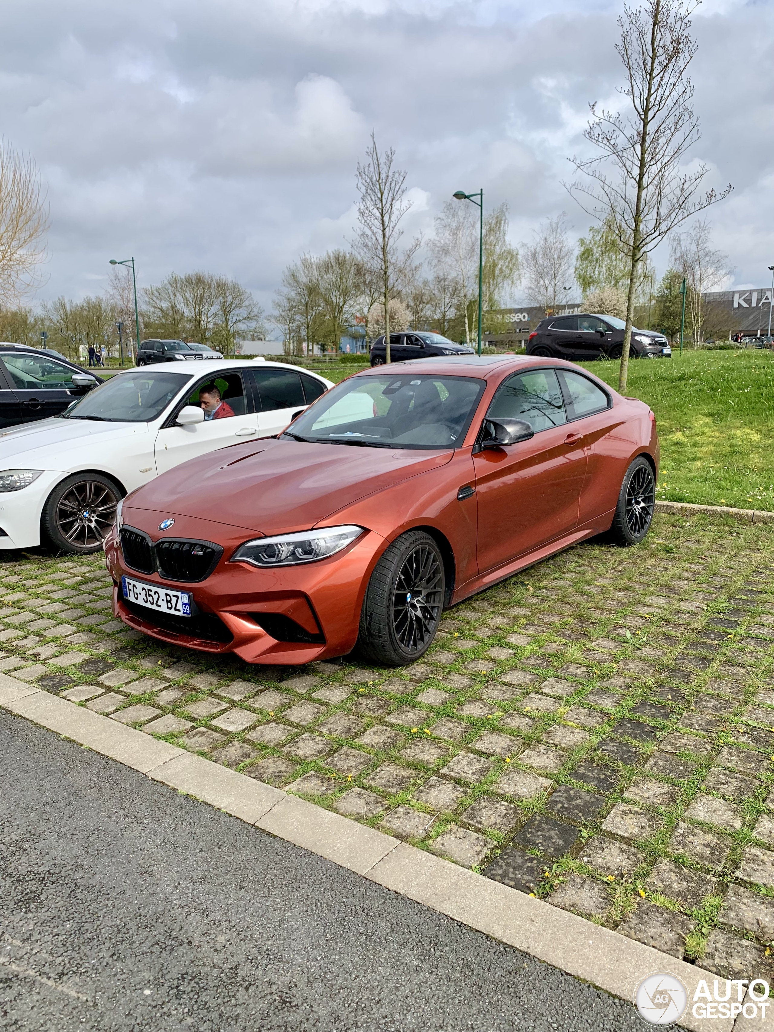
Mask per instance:
[[[456,448],[483,389],[483,380],[467,377],[355,377],[323,394],[288,436],[377,448]]]

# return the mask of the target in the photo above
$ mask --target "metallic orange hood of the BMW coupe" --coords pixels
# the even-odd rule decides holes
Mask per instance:
[[[150,510],[262,535],[305,530],[358,498],[445,465],[453,454],[267,438],[162,474],[127,497],[124,519]]]

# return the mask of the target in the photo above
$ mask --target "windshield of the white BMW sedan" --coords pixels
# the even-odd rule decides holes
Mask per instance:
[[[192,377],[174,373],[120,373],[95,387],[58,418],[109,423],[150,423],[166,409]]]

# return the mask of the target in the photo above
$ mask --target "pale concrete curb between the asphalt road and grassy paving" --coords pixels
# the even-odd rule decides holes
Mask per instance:
[[[0,707],[132,767],[156,781],[356,872],[613,996],[669,971],[690,996],[715,975],[509,889],[390,835],[160,742],[141,731],[0,674]],[[710,981],[711,983],[711,981]],[[679,1023],[691,1032],[732,1032],[731,1019]]]

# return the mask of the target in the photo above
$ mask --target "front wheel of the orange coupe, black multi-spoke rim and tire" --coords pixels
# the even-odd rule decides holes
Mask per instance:
[[[358,650],[369,663],[402,667],[432,644],[444,609],[444,559],[423,530],[401,535],[370,575],[360,611]]]

